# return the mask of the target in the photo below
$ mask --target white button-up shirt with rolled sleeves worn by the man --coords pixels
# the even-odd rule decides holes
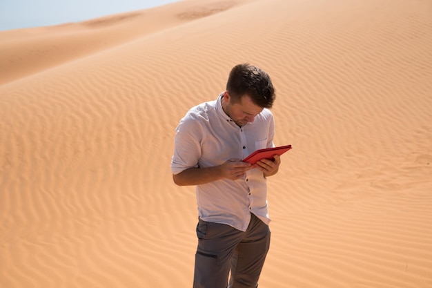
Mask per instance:
[[[171,171],[210,167],[242,160],[257,149],[273,147],[275,125],[268,109],[252,123],[237,126],[223,111],[222,94],[215,101],[191,108],[176,128]],[[222,179],[197,185],[199,218],[246,231],[254,213],[268,224],[266,177],[251,169],[239,180]]]

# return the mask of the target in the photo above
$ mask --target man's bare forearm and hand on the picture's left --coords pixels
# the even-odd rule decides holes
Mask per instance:
[[[237,180],[253,166],[242,161],[227,161],[222,165],[206,168],[189,168],[173,174],[174,183],[179,186],[201,185],[224,178]]]

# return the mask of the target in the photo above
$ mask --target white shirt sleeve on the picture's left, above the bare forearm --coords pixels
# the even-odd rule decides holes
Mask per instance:
[[[199,119],[193,113],[188,113],[180,120],[175,130],[174,153],[171,160],[171,172],[173,174],[198,167],[199,158],[202,155],[202,139],[204,130]]]

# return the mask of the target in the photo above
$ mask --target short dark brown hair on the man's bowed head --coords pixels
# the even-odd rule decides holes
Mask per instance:
[[[275,88],[270,76],[248,63],[236,65],[231,69],[226,90],[234,102],[248,95],[257,106],[271,108],[275,101]]]

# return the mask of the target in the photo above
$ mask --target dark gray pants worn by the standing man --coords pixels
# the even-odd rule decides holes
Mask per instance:
[[[270,247],[268,225],[253,214],[246,232],[199,219],[197,237],[194,288],[258,287]]]

